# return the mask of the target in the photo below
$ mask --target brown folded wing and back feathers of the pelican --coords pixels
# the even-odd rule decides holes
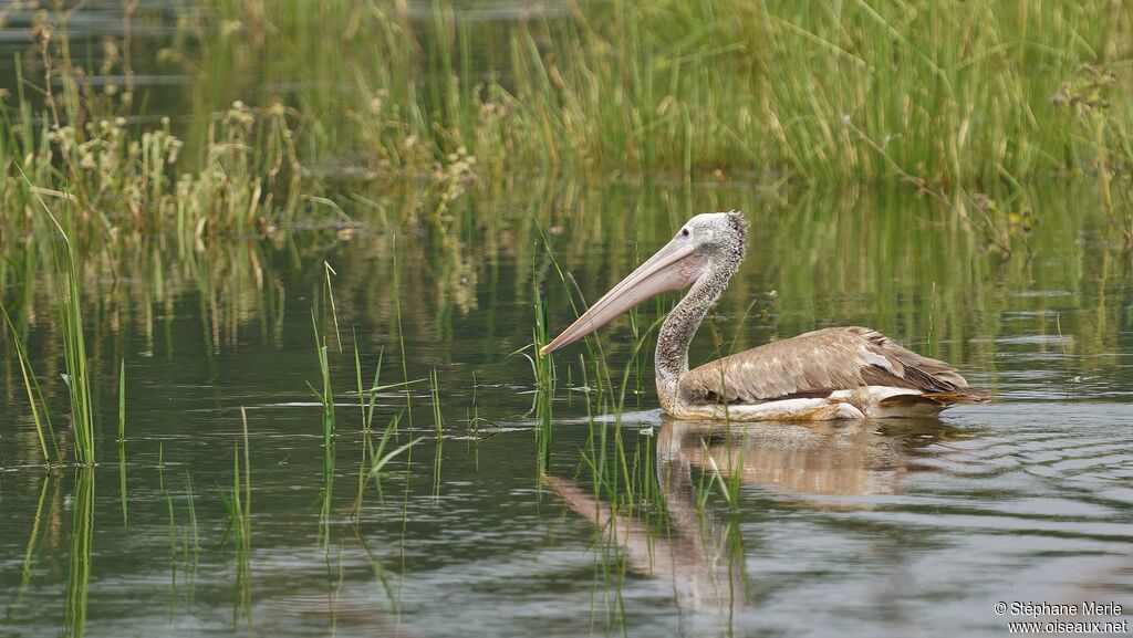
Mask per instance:
[[[695,403],[758,403],[863,385],[969,392],[968,382],[948,364],[868,327],[816,330],[717,359],[690,371],[680,392]]]

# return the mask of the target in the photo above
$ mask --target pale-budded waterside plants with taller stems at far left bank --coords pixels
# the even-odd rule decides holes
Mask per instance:
[[[17,58],[15,104],[0,101],[0,221],[49,228],[34,211],[41,196],[52,209],[69,206],[82,232],[176,229],[199,238],[263,231],[292,218],[300,203],[297,112],[233,100],[196,120],[202,128],[186,159],[170,118],[133,125],[144,101],[135,104],[113,83],[86,83],[71,60],[66,14],[42,16],[33,34],[43,76],[25,77]],[[127,70],[114,63],[107,53],[100,70]],[[63,90],[53,92],[56,84]]]

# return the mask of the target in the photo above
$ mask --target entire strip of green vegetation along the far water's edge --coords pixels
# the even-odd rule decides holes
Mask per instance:
[[[118,45],[76,61],[69,16],[39,15],[0,112],[6,226],[40,194],[105,230],[263,231],[333,211],[320,195],[341,176],[419,181],[415,214],[443,214],[547,172],[898,181],[961,206],[1080,177],[1128,207],[1121,2],[205,6],[133,57],[190,78],[172,125],[142,117],[140,90],[87,80],[133,77]]]

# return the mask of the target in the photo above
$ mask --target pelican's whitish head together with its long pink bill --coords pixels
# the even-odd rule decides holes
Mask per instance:
[[[721,283],[726,284],[747,247],[748,221],[741,213],[702,213],[690,219],[668,244],[595,301],[539,354],[569,346],[662,292],[695,288],[697,282],[709,279],[722,278]],[[717,288],[716,295],[723,286]]]

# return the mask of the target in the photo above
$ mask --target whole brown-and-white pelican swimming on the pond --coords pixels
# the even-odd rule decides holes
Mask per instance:
[[[906,350],[868,327],[827,327],[689,369],[689,343],[740,267],[748,247],[741,213],[704,213],[544,346],[582,339],[661,292],[689,292],[661,326],[657,397],[671,417],[834,420],[932,416],[987,401],[952,366]]]

